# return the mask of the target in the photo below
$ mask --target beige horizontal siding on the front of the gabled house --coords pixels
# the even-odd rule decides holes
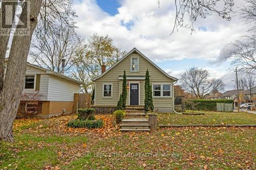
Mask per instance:
[[[131,57],[139,57],[139,72],[131,72]],[[118,80],[119,76],[123,75],[123,70],[126,71],[126,76],[145,76],[146,70],[150,72],[151,83],[169,83],[172,84],[174,80],[168,78],[153,64],[148,62],[139,54],[131,54],[123,61],[117,64],[114,68],[106,72],[104,76],[95,81],[96,85],[96,101],[97,106],[116,106],[119,100],[119,95],[122,91],[122,80]],[[144,80],[127,80],[127,82],[140,82],[140,105],[144,105]],[[112,98],[102,98],[102,84],[113,83],[113,96]],[[173,90],[172,90],[173,93]],[[173,96],[173,95],[172,95]],[[153,103],[156,110],[169,112],[173,111],[172,97],[170,98],[153,98]],[[129,92],[127,92],[126,104],[129,105]]]

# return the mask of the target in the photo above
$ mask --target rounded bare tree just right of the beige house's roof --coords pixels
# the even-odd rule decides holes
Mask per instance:
[[[198,99],[204,99],[207,94],[224,90],[224,83],[220,79],[209,79],[209,71],[197,67],[189,68],[181,75],[181,86]]]

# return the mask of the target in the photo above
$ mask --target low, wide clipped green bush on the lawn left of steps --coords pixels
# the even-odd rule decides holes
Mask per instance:
[[[101,128],[103,127],[104,123],[102,119],[98,119],[98,120],[83,120],[83,119],[73,119],[70,120],[70,122],[68,123],[68,127],[71,128]]]

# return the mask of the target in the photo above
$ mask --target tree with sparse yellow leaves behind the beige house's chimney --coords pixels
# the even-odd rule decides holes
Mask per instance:
[[[86,45],[77,49],[71,75],[83,82],[82,91],[88,92],[93,89],[92,79],[101,74],[101,65],[105,63],[109,68],[125,53],[114,45],[113,39],[108,35],[93,34]]]

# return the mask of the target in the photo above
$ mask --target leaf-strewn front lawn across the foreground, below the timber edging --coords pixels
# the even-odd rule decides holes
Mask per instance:
[[[15,120],[15,142],[0,143],[0,169],[256,168],[256,128],[120,133],[111,115],[97,116],[105,126],[94,130],[67,128],[72,118]]]

